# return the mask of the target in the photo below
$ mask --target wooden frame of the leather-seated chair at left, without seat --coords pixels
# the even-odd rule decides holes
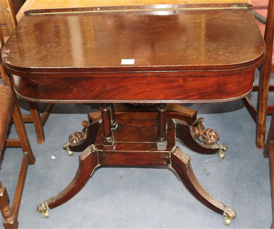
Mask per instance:
[[[2,30],[0,28],[0,37],[1,37],[1,46],[3,45],[3,36],[2,36]],[[0,73],[2,76],[2,82],[5,86],[8,86],[11,88],[12,91],[12,81],[8,76],[6,75],[2,63],[0,63]],[[24,126],[23,118],[20,112],[19,104],[16,99],[16,96],[14,92],[12,91],[12,96],[14,103],[14,108],[12,112],[12,119],[14,121],[15,129],[18,135],[18,139],[0,139],[1,142],[3,142],[3,146],[5,147],[21,147],[23,151],[23,158],[21,163],[21,168],[17,180],[17,185],[14,193],[13,203],[12,207],[9,206],[9,197],[8,193],[5,187],[2,187],[2,184],[0,182],[0,211],[3,216],[3,226],[4,229],[17,229],[18,228],[18,221],[17,216],[19,213],[20,203],[21,203],[21,197],[23,193],[25,178],[27,174],[27,168],[28,165],[32,165],[35,163],[35,157],[32,153],[32,149],[30,147],[26,129]],[[4,98],[1,98],[1,100]],[[3,109],[3,108],[1,108]],[[1,117],[3,118],[3,117]],[[6,119],[8,120],[8,118]],[[2,123],[3,126],[1,128],[6,127],[6,131],[8,128],[8,123]],[[2,146],[2,144],[1,144]],[[0,154],[2,151],[2,147],[0,148]]]

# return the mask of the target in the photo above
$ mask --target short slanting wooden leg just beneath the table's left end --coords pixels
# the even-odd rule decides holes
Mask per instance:
[[[42,143],[44,143],[45,135],[44,135],[42,120],[41,120],[40,113],[38,110],[38,105],[35,102],[29,102],[29,107],[30,107],[30,112],[32,115],[32,121],[34,124],[34,128],[36,131],[37,142],[39,144],[42,144]]]

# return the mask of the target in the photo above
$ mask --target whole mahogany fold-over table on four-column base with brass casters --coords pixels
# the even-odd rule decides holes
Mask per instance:
[[[48,209],[75,196],[99,166],[167,166],[229,225],[236,213],[204,190],[175,139],[221,158],[226,146],[217,144],[218,134],[205,129],[202,118],[187,119],[170,104],[247,96],[264,50],[249,4],[26,12],[1,53],[17,95],[34,102],[101,103],[101,114],[83,122],[83,132],[65,145],[83,151],[74,179],[37,210],[48,217]],[[121,109],[122,103],[156,104],[157,112]]]

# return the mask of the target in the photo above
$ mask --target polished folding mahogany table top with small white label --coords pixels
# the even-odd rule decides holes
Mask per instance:
[[[259,64],[264,48],[249,4],[44,9],[27,12],[2,61],[16,75],[226,71]]]

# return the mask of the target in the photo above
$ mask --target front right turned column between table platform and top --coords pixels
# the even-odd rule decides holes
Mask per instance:
[[[166,104],[159,104],[157,148],[165,149],[166,145]]]

